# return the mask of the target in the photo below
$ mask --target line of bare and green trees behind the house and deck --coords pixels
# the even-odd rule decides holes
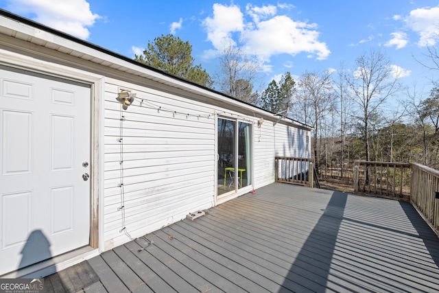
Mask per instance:
[[[405,71],[379,50],[353,67],[286,72],[263,84],[257,56],[224,44],[213,76],[194,65],[192,47],[171,34],[149,42],[135,60],[313,128],[313,159],[322,169],[352,169],[355,160],[416,162],[439,169],[439,86],[407,89]],[[439,69],[428,47],[428,69]]]

